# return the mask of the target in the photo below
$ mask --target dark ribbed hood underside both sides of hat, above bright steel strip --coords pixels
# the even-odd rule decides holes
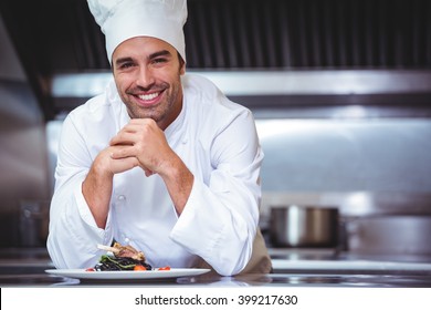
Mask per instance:
[[[191,70],[431,71],[429,0],[189,0],[188,8]],[[54,76],[109,71],[85,0],[2,0],[0,10],[45,118],[62,108]],[[421,103],[431,102],[425,93]]]

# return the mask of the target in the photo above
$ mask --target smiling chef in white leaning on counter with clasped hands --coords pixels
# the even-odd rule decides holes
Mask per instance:
[[[88,268],[98,244],[154,267],[269,272],[260,232],[263,159],[252,113],[186,74],[186,0],[88,0],[113,81],[64,121],[48,250]]]

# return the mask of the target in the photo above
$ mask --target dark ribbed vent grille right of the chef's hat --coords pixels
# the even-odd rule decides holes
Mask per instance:
[[[431,1],[189,1],[192,68],[431,66]]]

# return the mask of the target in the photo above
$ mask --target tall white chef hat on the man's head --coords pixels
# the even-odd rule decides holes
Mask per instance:
[[[135,37],[154,37],[171,44],[186,61],[183,25],[187,0],[87,0],[105,34],[109,62],[114,50]]]

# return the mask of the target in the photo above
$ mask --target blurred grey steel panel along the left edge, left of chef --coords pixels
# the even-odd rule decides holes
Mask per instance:
[[[0,247],[19,247],[49,199],[45,124],[1,18],[0,42]]]

